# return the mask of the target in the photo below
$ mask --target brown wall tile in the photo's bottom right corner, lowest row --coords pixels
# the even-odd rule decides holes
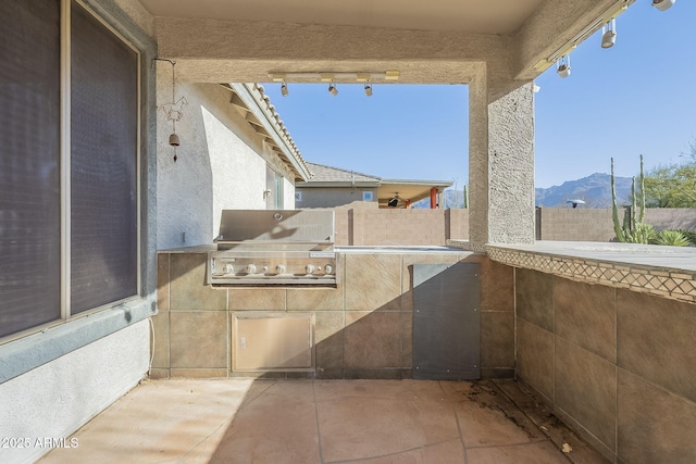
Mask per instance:
[[[696,404],[619,369],[618,454],[631,464],[696,462]]]

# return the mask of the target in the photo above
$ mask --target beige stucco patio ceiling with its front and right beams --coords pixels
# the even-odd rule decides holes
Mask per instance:
[[[632,0],[140,2],[154,16],[160,57],[177,60],[183,81],[398,71],[398,83],[469,84],[485,68],[495,98],[505,83],[535,78],[546,59]]]

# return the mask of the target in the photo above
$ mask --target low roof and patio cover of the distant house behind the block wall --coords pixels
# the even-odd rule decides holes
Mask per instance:
[[[417,202],[427,198],[432,188],[444,190],[452,185],[451,180],[388,179],[324,164],[307,164],[313,175],[309,181],[295,184],[296,188],[376,188],[381,205],[386,205],[395,197]]]

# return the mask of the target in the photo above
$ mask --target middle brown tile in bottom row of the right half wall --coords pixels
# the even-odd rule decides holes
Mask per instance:
[[[557,337],[555,367],[557,406],[616,449],[616,365]]]

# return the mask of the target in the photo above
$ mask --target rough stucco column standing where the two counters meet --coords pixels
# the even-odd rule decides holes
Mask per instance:
[[[504,86],[489,88],[485,68],[469,86],[472,244],[534,242],[533,84]]]

